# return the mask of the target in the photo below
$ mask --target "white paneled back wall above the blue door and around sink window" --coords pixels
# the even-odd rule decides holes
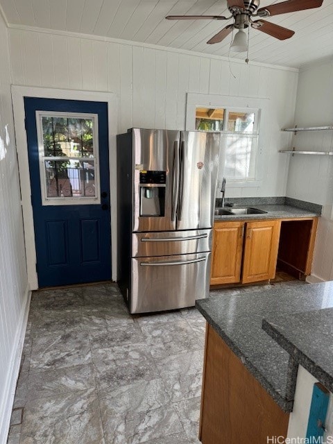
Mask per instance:
[[[14,84],[114,92],[119,133],[133,126],[185,129],[187,92],[269,99],[262,182],[227,185],[226,196],[284,196],[289,158],[278,150],[288,140],[280,129],[293,123],[297,70],[239,61],[229,66],[214,56],[56,31],[11,28],[9,35]]]

